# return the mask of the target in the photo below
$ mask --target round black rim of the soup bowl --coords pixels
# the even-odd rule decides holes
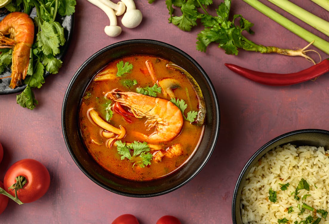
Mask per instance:
[[[68,138],[67,138],[67,133],[65,130],[65,122],[64,122],[64,117],[65,117],[65,108],[66,108],[66,99],[68,97],[68,94],[70,92],[70,89],[73,85],[73,83],[75,82],[75,80],[77,79],[78,75],[80,74],[80,72],[84,69],[84,67],[90,62],[92,61],[94,58],[96,58],[97,56],[99,56],[100,54],[102,54],[103,52],[111,49],[111,48],[115,48],[121,45],[125,45],[125,44],[133,44],[133,43],[147,43],[147,44],[154,44],[154,45],[160,45],[160,46],[164,46],[167,47],[173,51],[176,51],[177,53],[181,54],[182,56],[184,56],[185,58],[187,58],[188,60],[190,60],[196,67],[197,69],[202,73],[203,77],[205,78],[207,85],[209,86],[210,90],[211,90],[211,95],[214,97],[214,102],[215,102],[215,135],[214,135],[214,139],[213,142],[211,144],[211,149],[208,152],[208,155],[206,157],[206,159],[203,161],[203,163],[198,167],[198,169],[196,169],[193,174],[188,177],[185,181],[183,181],[181,184],[175,186],[175,187],[171,187],[168,188],[167,190],[161,191],[161,192],[155,192],[155,193],[148,193],[148,194],[133,194],[133,193],[126,193],[126,192],[122,192],[116,189],[113,189],[111,187],[108,187],[102,183],[99,183],[93,176],[91,176],[88,171],[80,164],[80,162],[78,161],[78,159],[76,158],[76,156],[74,155],[71,146],[68,143]],[[145,197],[154,197],[154,196],[160,196],[166,193],[169,193],[171,191],[174,191],[176,189],[178,189],[179,187],[184,186],[185,184],[187,184],[190,180],[192,180],[201,170],[202,168],[205,166],[205,164],[208,162],[209,158],[211,157],[217,140],[218,140],[218,135],[219,135],[219,128],[220,128],[220,108],[219,108],[219,103],[218,103],[218,97],[215,91],[215,87],[213,86],[209,76],[207,75],[207,73],[204,71],[204,69],[199,65],[198,62],[196,62],[190,55],[188,55],[186,52],[184,52],[183,50],[168,44],[168,43],[164,43],[162,41],[158,41],[158,40],[152,40],[152,39],[130,39],[130,40],[123,40],[123,41],[119,41],[113,44],[110,44],[102,49],[100,49],[99,51],[97,51],[96,53],[94,53],[93,55],[91,55],[85,62],[82,63],[82,65],[78,68],[78,70],[75,72],[75,74],[73,75],[73,77],[71,78],[67,89],[65,91],[64,94],[64,98],[63,98],[63,106],[62,106],[62,117],[61,117],[61,123],[62,123],[62,133],[63,133],[63,137],[64,137],[64,141],[65,141],[65,145],[66,148],[69,151],[69,154],[71,155],[73,161],[75,162],[75,164],[79,167],[79,169],[94,183],[96,183],[97,185],[99,185],[100,187],[103,187],[104,189],[107,189],[113,193],[119,194],[119,195],[123,195],[123,196],[129,196],[129,197],[137,197],[137,198],[145,198]]]

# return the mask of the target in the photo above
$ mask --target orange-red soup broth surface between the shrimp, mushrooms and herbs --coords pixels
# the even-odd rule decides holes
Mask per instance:
[[[138,55],[110,62],[104,69],[110,68],[115,70],[116,73],[116,64],[121,60],[133,64],[134,67],[130,73],[124,74],[121,77],[116,77],[114,81],[92,81],[89,84],[80,107],[80,129],[82,138],[90,155],[109,172],[122,178],[135,181],[157,179],[175,171],[189,159],[197,148],[198,142],[202,137],[203,127],[193,125],[189,121],[184,120],[183,128],[177,137],[169,142],[160,143],[163,150],[175,143],[181,143],[184,151],[182,155],[174,158],[163,157],[161,162],[154,162],[151,160],[151,165],[145,167],[140,167],[138,164],[133,166],[133,163],[128,161],[127,158],[124,160],[120,159],[120,155],[114,145],[112,145],[111,148],[107,147],[107,139],[100,134],[103,129],[89,120],[87,116],[88,110],[94,108],[105,120],[105,108],[106,103],[109,102],[109,100],[105,99],[104,95],[108,91],[118,89],[120,91],[136,92],[136,87],[152,87],[154,82],[152,81],[145,64],[145,61],[147,60],[150,60],[153,63],[154,73],[156,74],[157,80],[173,78],[179,81],[180,88],[175,89],[174,93],[176,98],[184,99],[188,105],[185,110],[185,115],[188,111],[198,111],[198,97],[195,89],[185,75],[182,75],[179,71],[166,68],[166,64],[171,63],[169,61],[154,56]],[[121,80],[125,79],[135,79],[137,85],[133,87],[125,87],[121,85]],[[187,97],[187,92],[189,97]],[[162,93],[158,93],[157,97],[165,98]],[[170,100],[169,97],[165,99]],[[150,135],[154,132],[154,129],[146,131],[144,124],[146,118],[132,117],[132,120],[133,123],[127,123],[120,114],[114,112],[112,119],[109,121],[109,123],[115,127],[122,125],[126,128],[126,136],[120,139],[122,142],[132,142],[134,140],[143,141],[134,136],[133,131],[141,132],[146,135]],[[150,153],[152,154],[153,151],[151,150]]]

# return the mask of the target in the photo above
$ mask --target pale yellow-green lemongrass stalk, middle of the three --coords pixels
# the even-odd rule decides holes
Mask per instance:
[[[291,15],[297,17],[298,19],[302,20],[303,22],[313,26],[318,31],[324,33],[325,35],[329,36],[329,22],[317,17],[316,15],[312,14],[311,12],[306,11],[305,9],[293,4],[288,0],[267,0],[274,5],[280,7],[286,12],[289,12]]]

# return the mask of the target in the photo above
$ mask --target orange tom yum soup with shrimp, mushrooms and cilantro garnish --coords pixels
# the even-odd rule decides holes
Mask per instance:
[[[134,55],[110,62],[87,87],[80,129],[90,155],[125,179],[148,181],[182,166],[203,134],[195,80],[167,60]]]

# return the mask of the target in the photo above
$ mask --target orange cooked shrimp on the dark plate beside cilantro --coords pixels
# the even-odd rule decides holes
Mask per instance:
[[[34,23],[28,14],[12,12],[0,22],[0,48],[13,47],[11,88],[20,85],[21,80],[25,79],[33,40]]]

